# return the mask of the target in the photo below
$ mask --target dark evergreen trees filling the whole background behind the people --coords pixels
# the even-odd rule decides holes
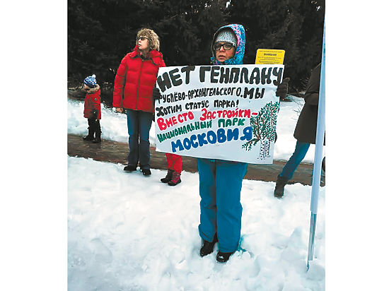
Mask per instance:
[[[161,39],[166,66],[209,64],[214,32],[229,23],[246,30],[244,64],[257,49],[284,49],[289,93],[304,90],[321,60],[325,0],[68,0],[68,88],[93,73],[112,102],[117,67],[140,28]]]

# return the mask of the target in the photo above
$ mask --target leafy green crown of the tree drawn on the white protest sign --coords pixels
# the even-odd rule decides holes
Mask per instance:
[[[258,141],[267,138],[269,141],[274,141],[276,138],[276,124],[277,112],[279,109],[279,102],[269,102],[265,107],[262,107],[257,116],[250,118],[250,125],[252,127],[252,140],[244,143],[242,148],[251,150]]]

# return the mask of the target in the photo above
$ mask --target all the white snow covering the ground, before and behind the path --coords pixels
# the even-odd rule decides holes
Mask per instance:
[[[68,100],[69,133],[86,133],[82,110]],[[278,159],[294,150],[297,110],[281,103]],[[104,107],[101,124],[103,138],[127,142],[124,114]],[[279,200],[274,182],[244,180],[240,249],[217,263],[217,247],[199,256],[198,175],[183,172],[172,187],[159,181],[165,171],[152,172],[68,157],[68,290],[325,290],[325,187],[307,272],[310,186],[288,185]]]

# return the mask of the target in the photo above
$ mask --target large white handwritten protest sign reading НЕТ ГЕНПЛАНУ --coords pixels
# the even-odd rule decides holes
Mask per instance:
[[[284,65],[160,68],[156,149],[271,164]]]

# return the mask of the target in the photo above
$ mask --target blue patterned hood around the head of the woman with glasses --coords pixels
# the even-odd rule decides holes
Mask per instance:
[[[218,35],[218,33],[221,30],[226,29],[226,28],[233,30],[233,32],[236,35],[236,39],[238,40],[238,44],[236,45],[235,56],[233,58],[228,59],[228,60],[224,61],[223,63],[221,63],[215,57],[214,42],[215,42],[215,39],[216,39],[216,36]],[[212,52],[211,62],[212,62],[212,64],[215,64],[215,65],[221,65],[221,64],[241,65],[241,64],[243,64],[243,57],[245,55],[245,43],[246,43],[246,36],[245,36],[245,28],[243,28],[243,25],[228,24],[228,25],[222,26],[221,28],[219,28],[215,32],[214,38],[213,38],[212,43],[211,43],[211,52]]]

